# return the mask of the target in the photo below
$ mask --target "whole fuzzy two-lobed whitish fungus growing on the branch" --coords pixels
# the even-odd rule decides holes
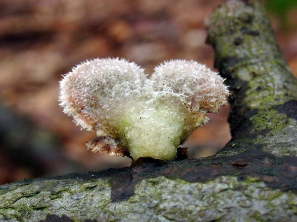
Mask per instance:
[[[195,61],[171,60],[148,79],[134,62],[83,62],[60,81],[64,113],[97,136],[93,152],[173,160],[177,147],[218,112],[229,91],[218,73]]]

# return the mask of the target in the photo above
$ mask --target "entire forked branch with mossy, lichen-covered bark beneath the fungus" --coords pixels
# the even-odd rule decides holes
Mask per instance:
[[[297,221],[297,83],[260,0],[208,18],[232,140],[207,158],[0,186],[0,222]]]

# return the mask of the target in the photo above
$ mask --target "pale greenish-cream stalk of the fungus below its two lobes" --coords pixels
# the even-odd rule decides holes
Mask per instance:
[[[178,145],[188,138],[188,132],[194,130],[189,131],[187,123],[201,123],[205,119],[202,115],[199,120],[191,120],[191,112],[180,101],[174,97],[168,99],[170,102],[159,98],[133,100],[117,115],[119,119],[115,120],[114,132],[128,147],[133,159],[174,159]]]

